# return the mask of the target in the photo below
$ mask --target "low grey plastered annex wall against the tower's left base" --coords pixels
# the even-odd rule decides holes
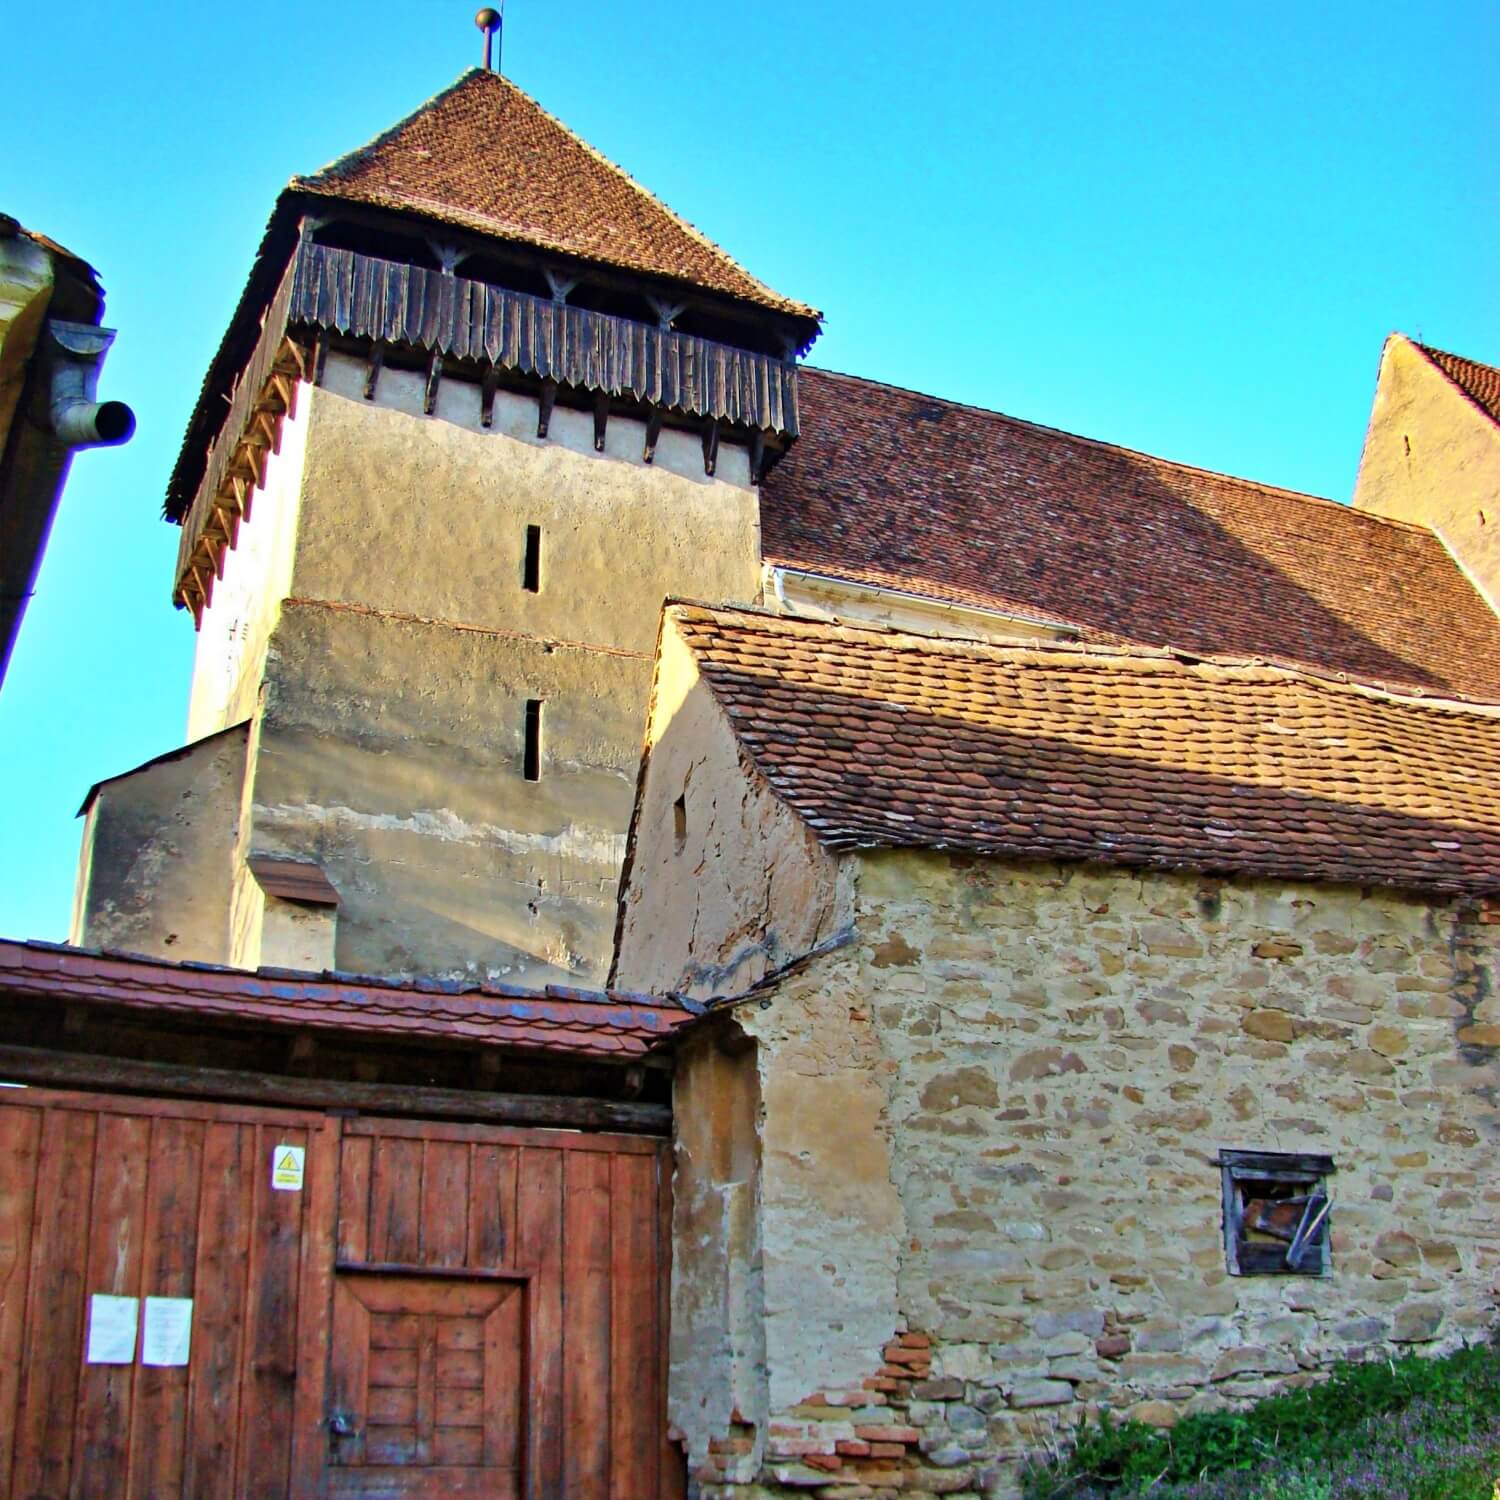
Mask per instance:
[[[69,942],[230,962],[246,726],[105,782],[86,813]]]

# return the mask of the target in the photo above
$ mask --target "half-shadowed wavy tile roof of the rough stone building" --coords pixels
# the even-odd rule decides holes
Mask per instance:
[[[670,618],[756,766],[836,849],[1500,888],[1497,706],[1252,660]]]

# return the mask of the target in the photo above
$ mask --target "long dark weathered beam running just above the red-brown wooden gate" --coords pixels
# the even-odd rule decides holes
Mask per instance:
[[[45,1047],[0,1044],[0,1077],[54,1088],[246,1100],[297,1108],[348,1108],[362,1114],[500,1120],[512,1125],[630,1131],[639,1136],[666,1136],[672,1128],[669,1104],[552,1094],[489,1094],[405,1083],[352,1083],[345,1078],[288,1078],[267,1072],[54,1052]],[[24,1102],[24,1095],[18,1102]]]

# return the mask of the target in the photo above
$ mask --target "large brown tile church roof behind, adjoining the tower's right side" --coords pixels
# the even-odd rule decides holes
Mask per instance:
[[[1425,528],[806,366],[798,399],[770,562],[1500,698],[1500,620]]]

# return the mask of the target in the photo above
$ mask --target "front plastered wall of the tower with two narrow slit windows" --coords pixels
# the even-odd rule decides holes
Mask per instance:
[[[226,598],[231,621],[273,621],[242,860],[322,867],[340,969],[597,982],[662,600],[756,597],[746,454],[724,447],[710,478],[698,440],[668,430],[648,466],[636,422],[612,418],[598,453],[590,414],[560,405],[537,440],[530,398],[501,393],[484,429],[477,386],[444,381],[424,416],[420,374],[387,369],[374,400],[364,378],[333,356],[324,384],[300,388],[296,524],[290,502],[273,510],[294,538],[290,578],[267,543],[260,592],[216,594],[206,615],[208,632]],[[195,712],[242,704],[234,680],[195,684]],[[242,879],[238,962],[256,951],[255,904]]]

